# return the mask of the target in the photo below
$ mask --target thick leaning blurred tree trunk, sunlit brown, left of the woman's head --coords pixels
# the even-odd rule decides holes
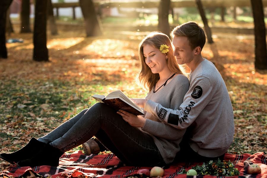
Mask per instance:
[[[96,15],[92,0],[80,0],[80,7],[85,22],[86,36],[98,36],[102,34],[101,24]]]

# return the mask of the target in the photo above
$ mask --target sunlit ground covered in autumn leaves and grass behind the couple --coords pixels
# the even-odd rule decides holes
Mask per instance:
[[[0,59],[0,150],[13,152],[45,135],[105,95],[120,89],[129,97],[147,93],[136,85],[138,44],[146,33],[106,32],[85,37],[83,29],[48,33],[50,62],[32,60],[32,34],[11,34]],[[202,55],[215,63],[234,110],[235,135],[229,153],[267,153],[267,74],[254,67],[252,35],[213,34]],[[79,148],[76,148],[79,149]],[[9,164],[0,160],[0,170]]]

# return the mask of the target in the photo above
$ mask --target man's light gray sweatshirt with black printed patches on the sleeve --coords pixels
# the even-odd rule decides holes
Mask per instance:
[[[190,88],[179,109],[148,100],[144,110],[174,128],[191,125],[189,144],[199,155],[220,156],[233,142],[231,100],[219,71],[206,59],[190,74]]]

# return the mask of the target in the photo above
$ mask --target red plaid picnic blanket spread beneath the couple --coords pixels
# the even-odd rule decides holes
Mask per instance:
[[[257,152],[253,155],[232,155],[225,154],[224,160],[231,160],[236,164],[236,168],[240,171],[239,176],[232,176],[233,178],[245,178],[245,177],[266,177],[267,178],[267,157],[263,152]],[[244,161],[247,160],[250,163],[257,163],[261,168],[261,174],[247,175],[244,169]],[[142,160],[140,160],[142,161]],[[181,169],[189,170],[191,167],[202,163],[175,163],[168,166],[164,166],[165,174],[163,178],[175,178],[186,177],[186,174],[178,174]],[[129,177],[137,173],[139,169],[151,169],[151,167],[138,167],[138,166],[125,166],[114,155],[84,155],[81,151],[76,151],[71,154],[65,153],[60,158],[58,167],[51,166],[36,166],[31,167],[18,167],[11,166],[8,170],[4,170],[0,177],[27,177],[30,174],[39,174],[44,177],[51,176],[52,178],[66,178],[66,177],[103,177],[103,178],[121,178]],[[30,173],[30,174],[29,174]],[[33,175],[32,175],[33,176]],[[38,175],[36,176],[38,177]],[[193,176],[191,176],[193,177]],[[194,177],[216,177],[210,175],[201,175]]]

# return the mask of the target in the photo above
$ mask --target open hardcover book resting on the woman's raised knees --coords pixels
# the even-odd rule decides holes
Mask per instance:
[[[143,110],[137,106],[121,90],[112,91],[106,97],[104,95],[93,95],[97,101],[105,103],[118,111],[119,109],[132,113],[134,115],[144,115]]]

